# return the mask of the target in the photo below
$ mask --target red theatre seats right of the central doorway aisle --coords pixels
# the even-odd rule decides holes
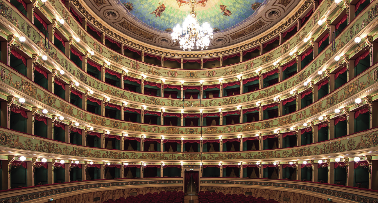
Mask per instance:
[[[266,200],[262,197],[253,197],[249,195],[248,197],[244,194],[223,194],[223,192],[213,192],[209,191],[198,193],[198,202],[199,203],[279,203],[276,200],[269,199]]]

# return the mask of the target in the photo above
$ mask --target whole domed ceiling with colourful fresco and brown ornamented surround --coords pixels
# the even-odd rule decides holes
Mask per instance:
[[[190,0],[79,2],[93,17],[97,16],[100,22],[102,20],[103,25],[107,24],[105,26],[108,28],[115,28],[119,34],[127,35],[125,37],[132,43],[147,47],[152,45],[168,52],[181,50],[178,42],[173,42],[171,32],[177,24],[181,26],[189,14]],[[273,37],[277,31],[295,23],[296,18],[291,18],[292,15],[296,11],[296,15],[301,15],[308,5],[305,3],[302,6],[301,0],[197,0],[194,9],[201,25],[208,22],[214,28],[214,37],[208,49],[216,49],[232,48],[232,45],[240,42],[245,44],[246,41],[256,40],[263,32]],[[281,20],[285,22],[280,23]],[[284,26],[278,26],[282,24]],[[191,52],[195,54],[199,51],[195,49]]]

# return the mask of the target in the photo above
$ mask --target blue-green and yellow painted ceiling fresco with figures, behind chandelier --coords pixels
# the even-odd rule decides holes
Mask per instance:
[[[119,3],[142,22],[167,32],[177,24],[181,26],[191,11],[190,0],[120,0]],[[263,4],[264,0],[197,0],[194,10],[200,25],[209,22],[215,32],[243,22]]]

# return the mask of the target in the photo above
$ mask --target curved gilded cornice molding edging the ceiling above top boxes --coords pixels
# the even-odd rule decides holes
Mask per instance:
[[[304,13],[304,11],[306,11],[310,6],[313,5],[313,0],[305,0],[305,2],[298,9],[298,11],[295,12],[295,14],[293,14],[285,22],[281,23],[281,25],[278,28],[274,29],[270,33],[264,35],[263,37],[260,37],[257,40],[246,43],[244,45],[235,46],[233,48],[227,48],[226,47],[224,50],[220,50],[220,51],[215,50],[214,52],[207,52],[207,53],[204,53],[204,54],[201,54],[201,53],[198,53],[198,52],[197,53],[188,52],[187,54],[183,53],[183,52],[177,53],[177,50],[167,51],[167,49],[152,49],[152,48],[149,48],[147,46],[140,45],[140,44],[136,43],[135,41],[126,39],[125,37],[122,37],[121,35],[116,34],[112,30],[108,29],[106,26],[102,25],[102,23],[100,23],[95,17],[93,17],[82,6],[82,4],[79,0],[73,0],[72,3],[75,6],[75,8],[79,12],[81,12],[81,14],[84,15],[84,17],[87,18],[87,20],[89,20],[93,25],[98,27],[105,34],[119,40],[120,42],[124,43],[127,46],[131,46],[132,48],[136,48],[136,49],[139,49],[141,51],[149,52],[149,53],[152,53],[152,54],[163,55],[163,56],[182,57],[182,58],[199,58],[199,57],[205,58],[205,57],[220,56],[220,55],[224,55],[224,54],[237,53],[237,52],[240,52],[242,50],[252,48],[253,46],[259,45],[260,43],[262,43],[266,40],[269,40],[271,37],[280,33],[284,29],[288,28],[288,26],[290,26],[293,22],[295,22]],[[145,31],[145,32],[148,33],[148,31]],[[221,48],[219,48],[219,49],[221,49]],[[209,51],[211,51],[211,49]]]

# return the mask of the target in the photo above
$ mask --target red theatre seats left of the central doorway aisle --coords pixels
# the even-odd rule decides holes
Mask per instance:
[[[116,200],[109,199],[102,203],[183,203],[184,202],[184,192],[183,191],[161,191],[159,194],[150,192],[143,195],[139,194],[137,196],[129,196],[127,198],[120,197]]]

